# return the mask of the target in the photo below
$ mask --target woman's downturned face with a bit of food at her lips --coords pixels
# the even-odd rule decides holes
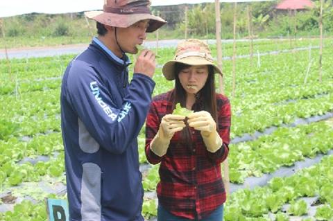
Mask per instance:
[[[179,72],[179,80],[187,94],[196,94],[205,86],[208,78],[207,65],[186,67]]]

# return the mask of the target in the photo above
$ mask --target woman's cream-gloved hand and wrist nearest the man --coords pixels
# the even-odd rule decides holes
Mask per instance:
[[[185,125],[185,116],[167,114],[162,118],[160,128],[151,141],[151,150],[159,157],[167,153],[172,136]]]

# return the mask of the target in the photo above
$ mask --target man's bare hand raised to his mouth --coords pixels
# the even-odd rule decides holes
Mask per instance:
[[[150,50],[143,50],[137,57],[137,62],[135,63],[134,73],[142,73],[150,78],[153,78],[155,73],[156,62],[155,54]]]

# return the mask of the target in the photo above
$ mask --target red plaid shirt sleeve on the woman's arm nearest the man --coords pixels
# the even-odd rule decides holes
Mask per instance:
[[[151,103],[151,107],[149,108],[147,120],[146,120],[146,158],[149,163],[157,164],[160,163],[162,157],[157,156],[151,150],[151,141],[155,137],[160,128],[160,118],[157,114],[157,107],[155,103]]]

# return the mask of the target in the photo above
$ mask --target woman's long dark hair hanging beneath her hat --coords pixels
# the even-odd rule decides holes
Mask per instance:
[[[186,91],[180,84],[179,73],[182,69],[191,67],[188,64],[176,63],[175,64],[175,89],[173,91],[173,103],[172,109],[176,107],[177,103],[180,103],[182,107],[186,107]],[[205,85],[203,86],[198,94],[196,94],[196,101],[194,103],[194,111],[198,112],[205,110],[210,112],[215,122],[217,121],[217,109],[216,109],[216,93],[215,93],[215,78],[214,78],[214,67],[212,65],[208,66],[208,77]],[[216,126],[217,128],[217,126]],[[182,138],[186,143],[189,143],[191,135],[189,134],[189,126],[182,130]]]

